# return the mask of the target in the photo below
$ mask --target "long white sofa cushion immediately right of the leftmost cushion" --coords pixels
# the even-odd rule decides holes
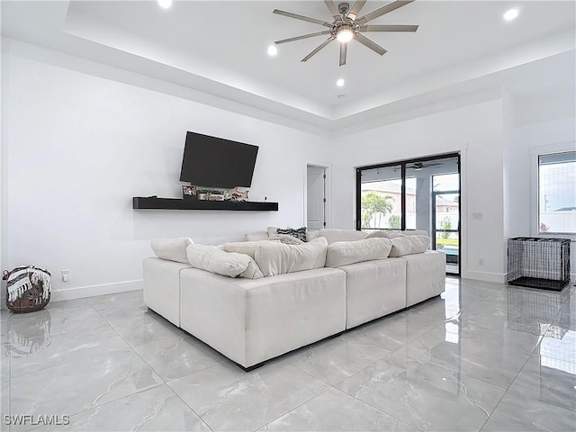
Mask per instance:
[[[251,261],[246,254],[225,252],[220,247],[205,245],[189,245],[186,256],[194,268],[230,277],[245,272]]]

